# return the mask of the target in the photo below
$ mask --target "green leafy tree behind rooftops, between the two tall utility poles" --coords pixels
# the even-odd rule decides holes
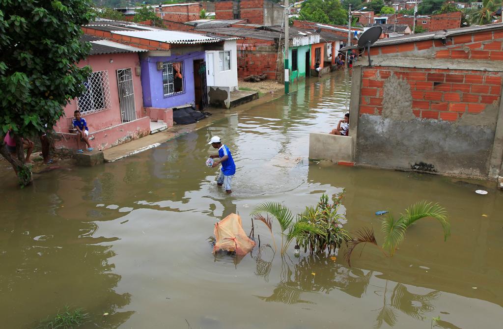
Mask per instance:
[[[302,4],[300,17],[310,22],[347,24],[348,12],[340,0],[309,0]]]

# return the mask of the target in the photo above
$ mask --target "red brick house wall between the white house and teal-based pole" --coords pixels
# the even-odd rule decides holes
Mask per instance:
[[[257,51],[260,46],[274,46],[274,41],[249,39],[237,40],[237,76],[266,73],[268,79],[276,79],[276,51]]]

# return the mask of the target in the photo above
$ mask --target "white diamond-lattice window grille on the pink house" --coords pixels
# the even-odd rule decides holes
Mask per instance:
[[[110,109],[110,83],[108,71],[91,73],[84,82],[86,91],[77,98],[77,108],[82,114],[91,114]]]

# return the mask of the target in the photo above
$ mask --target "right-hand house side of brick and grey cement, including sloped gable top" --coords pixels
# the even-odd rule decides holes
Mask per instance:
[[[502,45],[503,24],[378,40],[353,68],[355,162],[501,176]]]

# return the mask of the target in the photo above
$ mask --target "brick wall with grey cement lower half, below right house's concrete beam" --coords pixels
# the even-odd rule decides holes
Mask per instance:
[[[353,90],[360,94],[355,161],[487,179],[502,75],[363,67],[362,88]]]

